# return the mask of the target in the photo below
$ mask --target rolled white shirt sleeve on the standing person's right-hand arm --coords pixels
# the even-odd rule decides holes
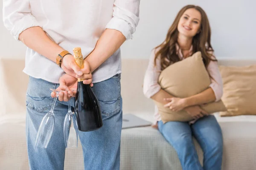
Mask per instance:
[[[132,39],[139,23],[140,0],[115,0],[113,17],[105,28],[122,32],[126,40]]]

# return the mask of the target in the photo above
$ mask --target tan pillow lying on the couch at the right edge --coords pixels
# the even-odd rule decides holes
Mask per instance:
[[[256,65],[219,69],[224,92],[221,99],[227,108],[220,116],[256,115]]]

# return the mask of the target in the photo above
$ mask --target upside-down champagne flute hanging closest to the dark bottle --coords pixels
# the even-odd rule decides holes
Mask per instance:
[[[68,111],[64,120],[64,142],[66,148],[76,148],[78,145],[78,127],[76,123],[76,116],[71,111],[70,101],[68,104]]]

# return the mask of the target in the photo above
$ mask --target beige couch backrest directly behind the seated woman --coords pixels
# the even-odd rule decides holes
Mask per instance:
[[[148,55],[150,51],[148,51]],[[143,59],[144,57],[144,59]],[[256,64],[254,58],[222,58],[218,57],[219,65],[245,66]],[[154,114],[154,102],[143,94],[143,78],[148,67],[148,56],[140,58],[122,58],[121,94],[123,99],[123,113],[145,112]],[[135,97],[136,96],[136,97]]]

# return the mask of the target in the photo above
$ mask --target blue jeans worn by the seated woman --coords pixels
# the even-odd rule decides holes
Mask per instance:
[[[223,142],[221,128],[215,116],[198,119],[195,124],[187,122],[158,122],[158,128],[165,139],[174,147],[183,170],[221,170]],[[202,167],[192,136],[204,152]]]

